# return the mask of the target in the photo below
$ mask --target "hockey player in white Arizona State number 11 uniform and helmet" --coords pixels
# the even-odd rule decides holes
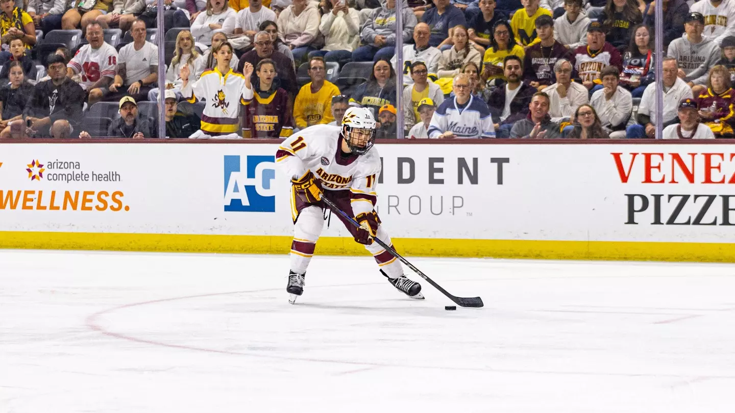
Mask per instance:
[[[360,224],[345,227],[357,243],[373,254],[380,272],[390,284],[411,298],[423,299],[421,285],[404,275],[401,263],[372,237],[392,245],[378,213],[375,212],[376,181],[381,170],[378,152],[373,148],[376,121],[370,109],[351,107],[345,112],[342,126],[315,125],[284,140],[276,151],[276,163],[291,179],[291,215],[294,237],[291,243],[291,266],[286,291],[290,303],[304,292],[306,268],[324,226],[322,197]]]

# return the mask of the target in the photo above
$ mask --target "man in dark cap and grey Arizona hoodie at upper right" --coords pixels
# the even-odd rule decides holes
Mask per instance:
[[[702,37],[704,16],[690,12],[684,21],[686,36],[671,42],[667,56],[675,57],[678,77],[684,80],[695,96],[706,89],[707,73],[720,60],[720,47]]]

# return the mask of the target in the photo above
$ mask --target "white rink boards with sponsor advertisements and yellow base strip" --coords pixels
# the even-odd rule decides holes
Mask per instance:
[[[276,144],[0,148],[0,246],[288,251]],[[376,148],[377,210],[411,254],[735,259],[728,146]],[[362,251],[336,216],[325,220],[322,254]]]

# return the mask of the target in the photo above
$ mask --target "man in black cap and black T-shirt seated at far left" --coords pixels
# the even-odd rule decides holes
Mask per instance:
[[[24,115],[33,137],[68,137],[82,118],[85,90],[66,77],[63,56],[50,54],[46,69],[51,79],[37,83]]]

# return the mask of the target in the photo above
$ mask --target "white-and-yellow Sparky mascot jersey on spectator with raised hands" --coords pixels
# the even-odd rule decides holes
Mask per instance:
[[[218,68],[204,71],[196,82],[188,82],[182,96],[191,103],[204,101],[201,130],[212,136],[240,131],[240,104],[253,98],[253,90],[245,87],[245,76],[232,68],[222,74]]]

